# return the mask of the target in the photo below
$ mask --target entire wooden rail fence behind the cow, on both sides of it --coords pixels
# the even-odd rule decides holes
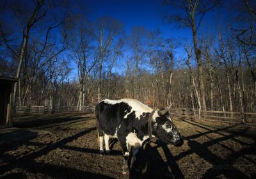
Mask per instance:
[[[15,114],[36,114],[36,113],[93,113],[94,105],[79,106],[61,106],[61,107],[47,107],[47,106],[17,106],[15,107]],[[241,113],[237,112],[223,112],[223,111],[201,111],[193,109],[170,109],[170,115],[182,119],[189,120],[209,120],[223,123],[241,123],[245,121],[248,124],[256,124],[256,113],[244,113],[244,118],[241,118]]]

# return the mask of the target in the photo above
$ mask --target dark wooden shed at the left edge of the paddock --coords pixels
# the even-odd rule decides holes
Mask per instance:
[[[13,123],[13,87],[18,80],[0,76],[0,128],[11,127]]]

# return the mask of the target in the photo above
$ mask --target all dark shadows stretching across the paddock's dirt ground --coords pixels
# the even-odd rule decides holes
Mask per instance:
[[[25,121],[21,123],[21,127],[36,127],[36,128],[49,128],[65,125],[72,125],[73,123],[78,123],[81,121],[90,120],[92,117],[81,118],[79,116],[69,116],[68,118],[54,118],[54,119],[45,119],[40,121]],[[228,127],[212,127],[210,125],[204,123],[198,123],[197,121],[189,121],[189,120],[180,120],[179,123],[187,124],[189,127],[195,128],[195,132],[190,132],[189,135],[184,137],[186,141],[185,145],[186,150],[181,150],[179,148],[175,148],[177,151],[182,152],[171,152],[170,146],[157,141],[155,144],[145,144],[144,150],[141,149],[137,154],[136,162],[132,162],[130,160],[130,173],[127,176],[115,175],[114,178],[255,178],[256,173],[256,161],[255,157],[255,134],[248,135],[248,128],[243,128],[241,130],[232,130],[236,128],[237,125],[230,125]],[[182,124],[180,124],[182,126]],[[65,132],[65,130],[60,130],[61,132]],[[93,143],[96,143],[95,130],[96,128],[91,125],[84,128],[83,131],[77,131],[76,128],[73,129],[74,133],[70,133],[70,136],[62,137],[57,141],[51,143],[44,143],[35,141],[36,137],[38,137],[38,133],[36,131],[31,131],[29,129],[22,129],[23,133],[15,133],[17,136],[28,136],[19,139],[17,143],[0,143],[0,177],[3,178],[33,178],[34,176],[39,178],[111,178],[107,171],[105,172],[104,168],[97,168],[97,166],[92,166],[92,168],[79,168],[80,163],[77,162],[73,164],[73,166],[66,165],[62,166],[61,164],[53,164],[51,162],[36,162],[36,159],[47,155],[60,148],[61,150],[68,150],[72,152],[72,154],[83,153],[86,156],[92,156],[91,159],[88,158],[88,162],[96,162],[95,159],[100,160],[99,162],[105,162],[106,164],[113,164],[113,167],[116,169],[118,166],[118,161],[122,160],[122,152],[121,150],[116,150],[116,139],[111,139],[109,141],[111,154],[110,158],[108,157],[98,157],[99,149],[95,148],[86,148],[83,146],[79,146],[77,143],[77,139],[79,137],[83,137],[83,139],[93,139]],[[54,130],[53,130],[54,131]],[[67,132],[67,131],[66,131]],[[91,135],[93,133],[93,135]],[[31,135],[30,135],[31,134]],[[89,135],[90,134],[90,135]],[[210,135],[209,135],[210,134]],[[211,135],[217,135],[218,137],[212,137]],[[12,136],[12,132],[1,133],[0,139],[3,137]],[[89,135],[89,136],[88,136]],[[239,136],[244,136],[253,143],[249,143],[248,141],[243,141],[239,138]],[[12,136],[12,138],[15,136]],[[207,140],[200,141],[200,137],[206,137]],[[44,139],[44,137],[43,137]],[[84,141],[84,143],[90,143],[91,141]],[[232,141],[235,144],[243,145],[244,147],[241,150],[234,150],[234,148],[228,146],[226,141]],[[74,145],[70,145],[68,143],[73,143]],[[118,144],[118,143],[117,143]],[[226,157],[220,157],[218,154],[212,152],[209,147],[214,144],[218,144],[221,148],[228,151],[228,155]],[[16,150],[19,146],[37,146],[37,150],[27,153],[26,155],[10,155],[8,152],[12,152]],[[97,144],[95,144],[97,146]],[[196,160],[195,163],[191,162],[191,160],[187,160],[188,156],[191,154],[196,154],[199,159],[204,159],[205,161],[211,164],[209,169],[203,171],[202,168],[204,166],[197,166]],[[52,155],[50,155],[52,156]],[[71,156],[75,157],[75,156]],[[77,157],[79,159],[79,157]],[[241,170],[236,167],[237,160],[243,158],[250,164],[250,170]],[[186,169],[184,166],[180,165],[180,160],[186,159],[186,166],[195,167],[195,171],[193,177],[188,176],[186,173]],[[82,159],[80,159],[82,160]],[[106,166],[106,165],[104,165]],[[246,168],[246,166],[245,166]],[[13,169],[18,169],[17,171]],[[114,170],[115,170],[114,169]],[[138,170],[140,172],[138,172]],[[26,173],[21,172],[26,171]],[[99,174],[100,173],[102,174]],[[28,175],[28,176],[27,176]],[[199,177],[200,176],[200,177]]]

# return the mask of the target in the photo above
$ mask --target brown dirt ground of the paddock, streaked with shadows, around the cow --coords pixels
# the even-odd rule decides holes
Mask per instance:
[[[17,118],[16,128],[0,129],[0,178],[256,178],[253,128],[174,123],[184,145],[145,144],[122,175],[118,142],[99,155],[93,114]]]

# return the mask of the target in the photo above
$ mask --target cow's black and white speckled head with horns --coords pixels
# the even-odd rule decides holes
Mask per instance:
[[[182,146],[183,139],[168,113],[170,107],[171,105],[159,109],[152,116],[154,120],[152,133],[164,143]]]

